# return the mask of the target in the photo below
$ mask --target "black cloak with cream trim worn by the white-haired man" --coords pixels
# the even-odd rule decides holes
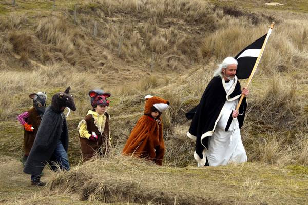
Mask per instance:
[[[197,108],[192,109],[188,113],[194,113],[187,136],[196,140],[196,148],[194,157],[201,165],[205,164],[205,153],[208,148],[209,137],[213,135],[216,124],[220,118],[221,110],[226,100],[239,100],[241,97],[241,85],[235,76],[235,82],[226,93],[224,89],[225,80],[220,76],[213,77],[207,85]],[[245,110],[247,107],[246,98],[243,99],[239,108],[238,116],[239,127],[244,122]],[[231,113],[230,113],[231,114]],[[187,116],[187,115],[186,115]]]

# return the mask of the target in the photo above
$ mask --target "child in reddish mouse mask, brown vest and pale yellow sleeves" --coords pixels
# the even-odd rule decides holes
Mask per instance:
[[[91,159],[95,154],[106,155],[110,151],[111,136],[109,128],[109,115],[106,109],[110,93],[103,90],[91,90],[92,110],[78,125],[79,139],[82,149],[83,162]]]

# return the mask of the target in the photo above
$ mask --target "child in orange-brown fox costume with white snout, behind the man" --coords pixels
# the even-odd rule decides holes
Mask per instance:
[[[147,158],[162,165],[165,154],[163,123],[161,114],[169,107],[169,102],[160,97],[145,96],[144,115],[133,128],[126,145],[124,155]]]

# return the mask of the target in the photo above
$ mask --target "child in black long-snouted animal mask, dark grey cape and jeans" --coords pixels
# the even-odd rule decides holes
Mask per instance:
[[[62,170],[69,170],[68,130],[63,111],[66,107],[76,110],[69,90],[70,87],[52,97],[51,106],[47,107],[38,128],[24,168],[25,173],[31,174],[33,185],[45,185],[40,178],[46,163],[49,163],[53,170],[56,170],[57,165]]]

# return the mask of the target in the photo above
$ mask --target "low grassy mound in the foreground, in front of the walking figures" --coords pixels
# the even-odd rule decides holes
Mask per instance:
[[[304,175],[295,175],[294,171],[305,173],[305,168],[255,163],[211,169],[171,168],[130,157],[105,158],[55,175],[48,189],[37,198],[65,193],[81,200],[105,203],[305,203],[307,199],[301,197],[307,186],[301,178]],[[218,185],[220,192],[215,189]],[[35,199],[19,201],[19,204],[26,202]]]

